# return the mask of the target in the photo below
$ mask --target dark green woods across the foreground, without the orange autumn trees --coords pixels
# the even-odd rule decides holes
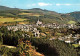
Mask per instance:
[[[21,31],[8,31],[6,27],[0,28],[0,44],[17,46],[18,40],[23,38],[31,41],[37,51],[45,56],[78,56],[79,50],[74,49],[71,44],[66,44],[59,40],[49,40],[47,38],[24,38]],[[3,48],[4,49],[4,48]],[[77,52],[78,51],[78,52]]]

